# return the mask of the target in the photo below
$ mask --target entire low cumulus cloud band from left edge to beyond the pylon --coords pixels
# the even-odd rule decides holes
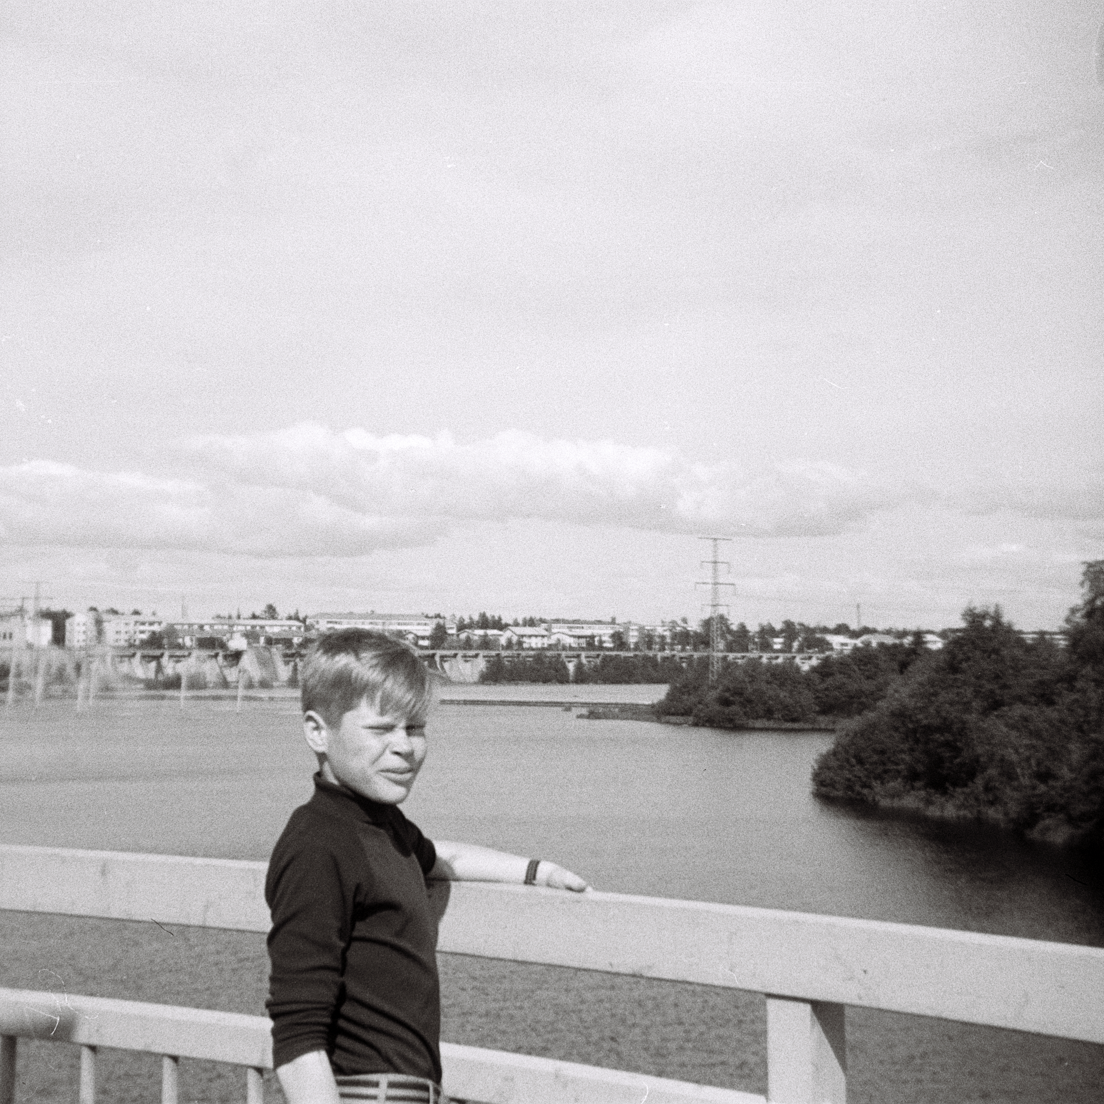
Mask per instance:
[[[0,469],[0,537],[268,556],[421,546],[456,524],[511,519],[816,537],[914,493],[827,463],[710,465],[516,431],[460,444],[305,424],[194,437],[177,455],[174,478],[44,460]]]

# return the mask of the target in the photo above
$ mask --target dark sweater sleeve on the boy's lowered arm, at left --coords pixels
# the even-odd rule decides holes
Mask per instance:
[[[317,842],[300,838],[273,853],[265,899],[274,1066],[332,1045],[353,893],[337,857]]]

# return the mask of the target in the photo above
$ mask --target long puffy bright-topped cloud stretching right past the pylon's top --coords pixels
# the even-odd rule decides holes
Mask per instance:
[[[450,435],[333,433],[304,424],[270,434],[193,437],[206,477],[325,496],[354,511],[452,522],[535,518],[666,532],[839,532],[905,492],[826,463],[701,464],[673,449],[548,439],[505,431]]]

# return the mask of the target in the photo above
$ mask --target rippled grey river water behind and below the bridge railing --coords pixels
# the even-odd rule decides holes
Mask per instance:
[[[809,772],[829,733],[587,721],[570,707],[470,700],[661,692],[445,688],[404,810],[429,836],[552,858],[603,890],[1104,946],[1104,885],[1083,860],[1000,831],[815,799]],[[247,701],[241,713],[219,699],[183,710],[105,700],[82,714],[72,702],[19,705],[0,720],[0,841],[10,843],[266,859],[310,790],[288,699]],[[178,930],[150,943],[148,925],[0,923],[2,984],[53,987],[42,983],[53,974],[70,991],[261,1011],[254,936]],[[120,959],[123,930],[128,955],[153,954],[157,973]],[[189,979],[197,955],[220,968]],[[762,998],[459,956],[443,960],[443,985],[453,1041],[765,1087]],[[1090,1101],[1104,1083],[1104,1048],[861,1009],[848,1030],[851,1101]],[[65,1060],[40,1064],[28,1073],[38,1097],[62,1094]],[[217,1076],[195,1081],[205,1086],[197,1098],[222,1098]]]

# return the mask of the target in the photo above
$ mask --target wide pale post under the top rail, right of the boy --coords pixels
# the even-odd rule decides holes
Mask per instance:
[[[766,998],[766,1098],[777,1104],[845,1104],[843,1006]]]

